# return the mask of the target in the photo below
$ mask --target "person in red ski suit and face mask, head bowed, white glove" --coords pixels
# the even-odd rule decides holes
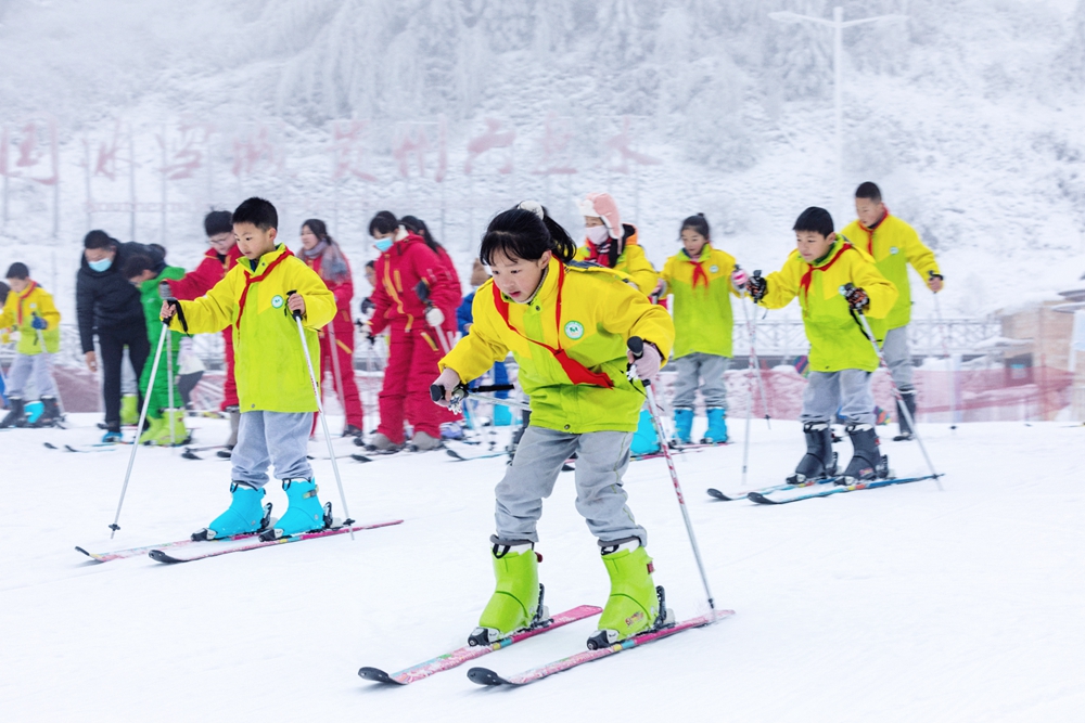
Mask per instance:
[[[381,256],[368,335],[391,332],[381,424],[369,448],[385,453],[401,449],[406,418],[414,427],[414,449],[437,449],[441,423],[448,414],[430,401],[430,382],[443,354],[439,335],[447,339],[456,333],[460,289],[425,240],[407,231],[391,211],[374,216],[369,233]]]

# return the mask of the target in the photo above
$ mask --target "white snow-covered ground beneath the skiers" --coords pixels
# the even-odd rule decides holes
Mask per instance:
[[[398,670],[464,642],[492,590],[502,460],[342,462],[356,518],[405,520],[354,542],[95,564],[73,546],[182,538],[225,506],[230,477],[227,462],[141,449],[111,542],[130,448],[42,447],[92,441],[94,422],[0,432],[4,721],[1051,722],[1085,710],[1083,426],[929,425],[944,492],[922,482],[755,507],[704,493],[741,486],[735,419],[740,443],[677,467],[717,603],[738,615],[528,688],[486,690],[465,668],[396,689],[357,670]],[[200,443],[225,437],[224,422],[194,425]],[[924,470],[916,444],[885,449],[897,473]],[[796,423],[755,422],[751,479],[780,479],[801,451]],[[330,463],[315,465],[322,499],[339,506]],[[269,489],[281,512],[282,491]],[[634,463],[627,489],[671,606],[703,611],[665,463]],[[563,475],[540,522],[554,611],[601,605],[608,591],[573,498]],[[477,664],[514,673],[575,653],[592,624]]]

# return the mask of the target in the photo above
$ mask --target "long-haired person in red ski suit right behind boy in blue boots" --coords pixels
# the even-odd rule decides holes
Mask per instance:
[[[320,337],[320,364],[324,371],[332,372],[335,391],[346,413],[343,436],[361,437],[361,397],[358,396],[358,382],[354,376],[354,322],[350,321],[354,279],[350,263],[339,243],[328,235],[324,222],[315,218],[302,224],[301,256],[306,266],[323,280],[328,291],[335,295],[335,320],[317,332]],[[332,358],[333,353],[335,358]]]

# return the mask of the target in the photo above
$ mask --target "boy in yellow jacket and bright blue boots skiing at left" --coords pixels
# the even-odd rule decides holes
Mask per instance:
[[[233,327],[234,376],[241,403],[233,448],[230,507],[193,539],[256,532],[267,525],[267,468],[275,460],[289,507],[273,535],[285,537],[327,525],[306,457],[317,400],[303,357],[293,312],[302,313],[309,359],[320,378],[316,330],[335,315],[335,297],[324,282],[285,245],[278,243],[279,216],[263,198],[233,211],[233,233],[244,258],[222,281],[193,301],[167,299],[162,318],[186,334]]]

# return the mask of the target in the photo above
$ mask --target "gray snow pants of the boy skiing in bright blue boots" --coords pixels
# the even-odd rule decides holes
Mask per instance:
[[[230,455],[233,481],[260,489],[268,482],[272,460],[279,479],[312,477],[306,457],[311,428],[312,412],[244,412]]]

